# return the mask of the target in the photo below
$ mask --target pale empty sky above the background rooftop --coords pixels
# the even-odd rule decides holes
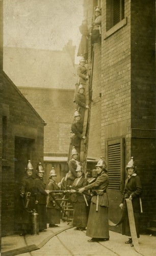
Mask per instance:
[[[62,50],[72,39],[76,55],[82,19],[83,0],[4,0],[4,46]]]

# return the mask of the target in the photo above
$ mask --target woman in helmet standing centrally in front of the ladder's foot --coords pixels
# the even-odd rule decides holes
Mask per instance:
[[[75,189],[80,189],[88,185],[87,179],[84,178],[83,166],[81,163],[77,165],[75,170],[77,178],[74,180],[71,191],[71,201],[73,202],[73,226],[76,228],[74,230],[85,230],[87,226],[87,207],[88,198],[85,195],[77,193]],[[74,189],[75,188],[75,189]]]

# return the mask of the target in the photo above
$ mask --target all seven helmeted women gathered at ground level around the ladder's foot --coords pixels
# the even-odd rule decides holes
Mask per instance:
[[[95,165],[96,178],[89,182],[85,178],[82,164],[77,161],[75,148],[72,150],[72,159],[69,161],[69,172],[66,175],[66,182],[70,190],[70,199],[73,203],[73,226],[74,230],[86,230],[86,236],[91,239],[88,242],[108,241],[109,240],[109,218],[108,218],[108,185],[109,177],[107,174],[106,162],[102,158]],[[125,199],[132,200],[134,219],[137,237],[139,238],[139,220],[141,204],[140,196],[142,185],[136,172],[136,164],[133,159],[126,165],[128,177],[125,180],[125,187],[121,199],[120,208],[123,209],[123,228],[122,233],[131,236],[129,227],[128,212]],[[95,170],[94,170],[95,172]],[[43,232],[49,227],[56,227],[60,223],[60,208],[51,197],[50,190],[60,190],[61,183],[57,183],[57,174],[52,167],[49,174],[47,190],[43,182],[44,170],[39,163],[36,173],[33,173],[33,166],[29,161],[25,170],[25,175],[21,179],[20,196],[23,202],[22,211],[22,230],[20,236],[31,231],[32,210],[36,210],[39,215],[39,231]],[[56,196],[57,197],[57,196]],[[134,246],[132,238],[125,244]]]

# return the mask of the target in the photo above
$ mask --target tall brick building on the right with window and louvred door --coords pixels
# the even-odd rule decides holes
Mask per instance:
[[[125,166],[135,158],[143,185],[144,228],[156,213],[155,1],[84,0],[89,26],[96,6],[101,7],[102,23],[93,48],[88,151],[96,159],[107,159],[109,214],[116,223]],[[91,42],[89,54],[90,50]]]

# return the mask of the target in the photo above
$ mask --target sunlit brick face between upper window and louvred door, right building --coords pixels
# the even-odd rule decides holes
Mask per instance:
[[[126,26],[106,37],[107,5],[102,1],[101,113],[102,148],[110,138],[125,137],[127,157],[131,156],[131,22],[125,1]],[[129,155],[130,154],[130,155]]]

